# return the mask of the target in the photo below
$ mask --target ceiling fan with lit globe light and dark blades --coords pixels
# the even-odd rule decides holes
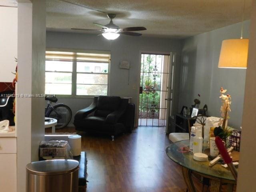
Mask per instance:
[[[102,25],[98,23],[93,23],[98,27],[101,27],[101,30],[94,30],[94,29],[82,29],[82,28],[71,28],[73,30],[89,30],[89,31],[100,31],[102,32],[102,36],[108,40],[115,40],[120,36],[120,34],[124,35],[131,35],[131,36],[141,36],[141,33],[136,33],[132,31],[142,31],[146,30],[145,27],[126,27],[126,28],[119,28],[119,26],[115,25],[112,21],[116,17],[116,14],[113,13],[108,13],[107,14],[108,18],[110,18],[109,24]]]

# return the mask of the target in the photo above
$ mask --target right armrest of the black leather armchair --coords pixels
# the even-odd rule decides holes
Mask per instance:
[[[118,119],[125,113],[127,106],[128,106],[128,99],[122,99],[118,110],[108,114],[108,116],[106,117],[106,122],[110,124],[117,123]]]

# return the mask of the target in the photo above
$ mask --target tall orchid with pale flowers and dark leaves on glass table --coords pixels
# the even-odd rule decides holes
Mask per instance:
[[[228,136],[230,136],[231,132],[228,130],[228,127],[226,126],[226,122],[227,119],[230,118],[229,112],[230,110],[230,104],[231,104],[231,96],[230,94],[224,94],[226,93],[226,89],[224,89],[223,87],[220,88],[220,98],[222,99],[222,106],[220,107],[220,112],[221,112],[221,117],[222,120],[220,122],[220,124],[222,124],[222,126],[216,127],[214,129],[214,135],[215,136],[219,136],[220,138],[222,138],[223,140],[226,140],[228,138]]]

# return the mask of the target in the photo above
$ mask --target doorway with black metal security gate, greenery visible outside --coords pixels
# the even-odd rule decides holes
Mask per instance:
[[[166,126],[170,54],[141,54],[139,126]]]

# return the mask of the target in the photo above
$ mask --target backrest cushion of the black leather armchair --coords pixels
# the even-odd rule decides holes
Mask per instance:
[[[121,98],[118,96],[99,96],[95,116],[106,117],[108,114],[118,110]]]

